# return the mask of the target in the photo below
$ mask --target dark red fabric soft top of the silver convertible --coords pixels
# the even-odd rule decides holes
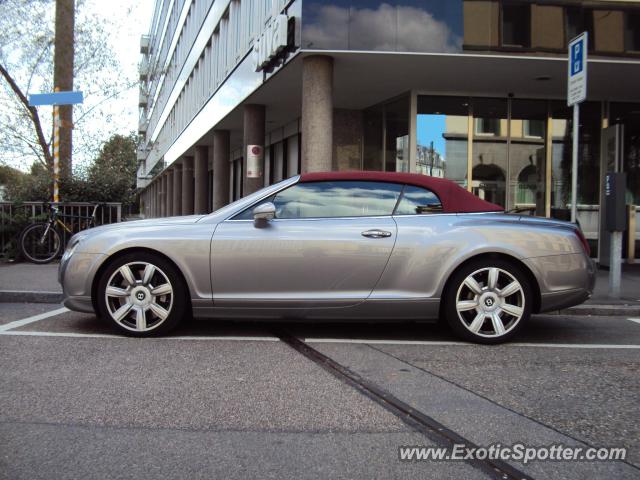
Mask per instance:
[[[504,208],[476,197],[457,183],[446,178],[429,177],[418,173],[397,172],[317,172],[305,173],[300,182],[319,182],[327,180],[364,180],[370,182],[391,182],[415,185],[431,190],[442,203],[445,213],[502,212]]]

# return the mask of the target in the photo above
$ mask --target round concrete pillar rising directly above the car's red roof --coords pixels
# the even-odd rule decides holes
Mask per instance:
[[[302,60],[302,173],[331,170],[333,154],[333,58]]]

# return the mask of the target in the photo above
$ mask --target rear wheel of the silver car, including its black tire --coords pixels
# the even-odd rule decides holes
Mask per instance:
[[[490,269],[498,270],[493,289],[489,288]],[[470,276],[472,280],[469,283],[476,290],[481,287],[481,294],[476,293],[465,283]],[[473,284],[473,280],[476,280],[477,285]],[[515,288],[512,280],[519,283],[520,289],[512,295],[507,295],[511,289]],[[507,290],[507,285],[512,288]],[[458,337],[475,343],[503,343],[516,336],[529,321],[533,305],[532,292],[531,283],[519,266],[503,259],[479,259],[463,265],[451,275],[444,292],[443,313],[447,323]],[[505,295],[502,296],[500,293]],[[477,303],[478,307],[462,310],[461,303],[462,311],[459,312],[458,300],[469,307]],[[502,310],[502,306],[512,313]],[[518,316],[518,312],[521,312],[521,315]],[[494,314],[498,316],[500,322],[496,322]],[[482,317],[482,315],[485,316]],[[502,325],[504,332],[500,332],[499,326],[496,328],[497,323]]]

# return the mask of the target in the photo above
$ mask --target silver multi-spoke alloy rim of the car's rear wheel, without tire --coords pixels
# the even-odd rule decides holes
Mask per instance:
[[[476,270],[456,293],[456,311],[474,335],[497,338],[513,330],[524,314],[525,294],[516,278],[496,267]]]

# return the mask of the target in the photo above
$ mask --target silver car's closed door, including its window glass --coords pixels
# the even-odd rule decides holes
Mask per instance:
[[[256,205],[222,222],[211,246],[214,306],[362,302],[393,250],[391,214],[401,189],[384,182],[297,183],[268,199],[276,214],[262,228],[253,221]]]

